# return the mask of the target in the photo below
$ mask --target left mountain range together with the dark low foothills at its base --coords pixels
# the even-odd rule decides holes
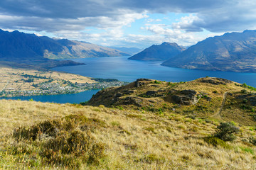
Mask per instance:
[[[128,55],[108,47],[67,39],[0,30],[0,64],[15,67],[52,68],[80,64],[55,59]],[[54,60],[53,60],[54,59]]]

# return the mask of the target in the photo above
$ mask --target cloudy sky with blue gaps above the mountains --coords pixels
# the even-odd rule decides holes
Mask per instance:
[[[0,28],[103,46],[188,46],[256,29],[255,0],[1,0]]]

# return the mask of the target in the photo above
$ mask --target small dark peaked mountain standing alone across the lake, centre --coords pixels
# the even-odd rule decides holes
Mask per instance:
[[[176,43],[163,42],[161,45],[152,45],[146,48],[137,55],[129,57],[129,60],[144,60],[144,61],[166,61],[169,60],[185,48],[178,46]]]

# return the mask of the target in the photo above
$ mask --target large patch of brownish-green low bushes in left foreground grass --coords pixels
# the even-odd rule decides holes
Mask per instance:
[[[82,164],[98,164],[105,156],[105,145],[95,140],[90,129],[102,124],[84,115],[68,115],[21,127],[14,130],[16,143],[9,152],[28,159],[29,166],[45,164],[78,169]]]

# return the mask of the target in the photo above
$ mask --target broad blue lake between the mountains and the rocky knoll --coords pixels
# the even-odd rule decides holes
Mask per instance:
[[[218,72],[197,69],[179,69],[161,66],[161,62],[127,60],[128,57],[101,57],[73,59],[86,65],[57,67],[53,70],[80,74],[86,77],[135,81],[139,78],[161,81],[191,81],[200,77],[220,77],[256,87],[255,73]]]

